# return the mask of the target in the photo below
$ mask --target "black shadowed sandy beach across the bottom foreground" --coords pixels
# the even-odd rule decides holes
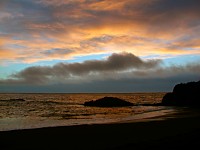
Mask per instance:
[[[146,122],[2,131],[0,141],[1,150],[194,149],[200,141],[200,115],[195,112]]]

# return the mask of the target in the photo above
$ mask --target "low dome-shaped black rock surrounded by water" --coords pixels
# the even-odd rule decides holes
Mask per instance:
[[[96,106],[96,107],[123,107],[133,106],[132,103],[115,97],[104,97],[96,101],[89,101],[84,103],[85,106]]]

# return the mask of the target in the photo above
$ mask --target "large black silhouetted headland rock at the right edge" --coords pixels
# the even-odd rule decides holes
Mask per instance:
[[[172,93],[167,93],[162,100],[163,105],[200,106],[200,81],[175,85]]]

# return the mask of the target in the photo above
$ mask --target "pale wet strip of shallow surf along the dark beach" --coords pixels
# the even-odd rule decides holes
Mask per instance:
[[[60,126],[77,126],[77,125],[96,125],[96,124],[116,124],[116,123],[134,123],[134,122],[148,122],[154,120],[163,120],[168,117],[176,117],[177,114],[184,113],[183,110],[160,108],[158,110],[142,112],[124,118],[110,118],[110,119],[88,119],[88,120],[51,120],[34,118],[1,118],[0,132],[13,130],[37,129],[45,127],[60,127]]]

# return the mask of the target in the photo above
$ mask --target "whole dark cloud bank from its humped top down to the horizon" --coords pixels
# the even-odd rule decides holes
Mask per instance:
[[[34,66],[0,80],[0,92],[153,92],[200,79],[200,64],[164,67],[131,53],[104,60]]]

